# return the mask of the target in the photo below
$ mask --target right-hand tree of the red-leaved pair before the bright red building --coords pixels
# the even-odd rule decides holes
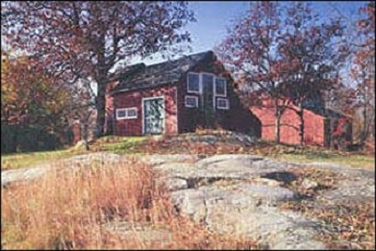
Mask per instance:
[[[299,118],[298,134],[304,144],[304,108],[325,109],[325,92],[341,87],[339,71],[350,55],[348,44],[341,40],[344,26],[340,19],[319,21],[306,3],[293,2],[286,7],[285,32],[279,44],[281,88],[292,98]],[[321,100],[320,100],[321,99]]]

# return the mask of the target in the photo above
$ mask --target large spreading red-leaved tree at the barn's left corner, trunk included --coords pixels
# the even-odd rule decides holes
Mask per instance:
[[[133,56],[146,57],[189,41],[180,32],[195,21],[187,2],[4,1],[2,39],[33,55],[43,69],[66,82],[97,85],[98,135],[104,133],[109,71]],[[168,47],[168,48],[167,48]]]

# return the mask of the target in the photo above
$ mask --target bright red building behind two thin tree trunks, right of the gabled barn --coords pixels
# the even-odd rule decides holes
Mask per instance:
[[[250,110],[261,121],[261,138],[273,141],[275,139],[275,109],[272,104],[270,100],[263,100],[261,106],[251,107]],[[351,119],[321,106],[306,107],[303,111],[304,144],[345,148],[352,143]],[[290,107],[297,109],[294,105]],[[299,117],[294,110],[284,110],[280,121],[281,143],[299,144]]]

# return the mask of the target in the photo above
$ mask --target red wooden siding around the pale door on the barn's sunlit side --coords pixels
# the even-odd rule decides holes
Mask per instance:
[[[165,85],[151,89],[117,93],[114,95],[115,135],[142,135],[142,98],[164,97],[165,133],[177,133],[176,86]],[[137,107],[137,119],[116,120],[116,109]]]

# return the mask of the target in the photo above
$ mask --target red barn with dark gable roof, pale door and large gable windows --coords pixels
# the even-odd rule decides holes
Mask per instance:
[[[177,134],[222,128],[260,135],[260,121],[235,93],[212,51],[130,65],[114,74],[107,129],[115,135]]]

